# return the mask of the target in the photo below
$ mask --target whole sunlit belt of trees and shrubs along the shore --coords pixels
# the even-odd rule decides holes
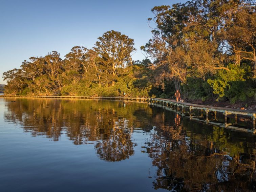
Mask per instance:
[[[256,13],[251,0],[192,0],[152,8],[152,38],[133,61],[134,40],[107,31],[92,49],[74,46],[3,73],[6,94],[255,101]]]

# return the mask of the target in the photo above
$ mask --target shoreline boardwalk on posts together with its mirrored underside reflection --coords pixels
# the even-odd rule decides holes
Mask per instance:
[[[94,99],[94,100],[121,100],[121,101],[135,101],[135,102],[147,102],[156,105],[164,106],[165,108],[179,113],[180,115],[189,117],[192,120],[203,121],[205,123],[214,124],[226,128],[238,129],[246,132],[252,132],[255,134],[255,119],[256,111],[230,109],[224,107],[213,107],[206,105],[197,105],[192,103],[181,103],[169,99],[159,98],[130,98],[130,97],[80,97],[80,96],[16,96],[16,95],[0,95],[0,97],[15,97],[15,98],[58,98],[58,99]],[[194,111],[200,110],[201,115],[195,115]],[[214,114],[214,119],[209,119],[209,112]],[[224,122],[217,122],[217,112],[223,113]],[[234,115],[235,122],[228,123],[228,115]],[[233,125],[237,124],[237,115],[249,116],[252,122],[252,129],[239,128]]]

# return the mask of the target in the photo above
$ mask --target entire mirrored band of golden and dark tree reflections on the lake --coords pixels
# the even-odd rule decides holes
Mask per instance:
[[[16,102],[10,102],[13,100]],[[21,124],[33,136],[46,135],[58,141],[65,134],[75,145],[93,143],[98,157],[108,162],[136,155],[134,147],[138,143],[133,132],[146,133],[140,147],[156,167],[154,189],[255,190],[255,135],[197,123],[141,103],[5,101],[6,121]]]

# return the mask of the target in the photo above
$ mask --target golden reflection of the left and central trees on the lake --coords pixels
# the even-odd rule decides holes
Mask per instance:
[[[144,115],[152,113],[148,105],[138,103],[126,103],[123,107],[123,102],[108,101],[33,98],[16,101],[7,102],[6,120],[20,123],[33,136],[47,135],[54,141],[63,132],[75,145],[95,141],[99,158],[111,162],[134,154],[133,124],[140,126],[143,122],[133,114],[137,110]]]

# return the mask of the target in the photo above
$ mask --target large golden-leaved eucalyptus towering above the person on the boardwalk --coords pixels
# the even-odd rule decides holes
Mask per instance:
[[[244,2],[194,0],[152,8],[155,17],[148,21],[156,27],[150,26],[153,37],[141,49],[155,59],[155,84],[164,88],[165,80],[172,80],[180,90],[188,77],[206,79],[218,69],[229,71],[232,51],[223,28],[226,15]]]

